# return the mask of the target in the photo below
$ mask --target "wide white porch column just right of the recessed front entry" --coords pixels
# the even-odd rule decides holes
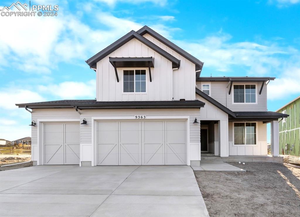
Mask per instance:
[[[228,147],[228,120],[219,121],[219,156],[228,157],[229,147]]]

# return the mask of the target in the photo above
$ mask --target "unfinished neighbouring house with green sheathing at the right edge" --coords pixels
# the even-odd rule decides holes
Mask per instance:
[[[279,122],[279,153],[300,157],[300,96],[276,112],[289,115]]]

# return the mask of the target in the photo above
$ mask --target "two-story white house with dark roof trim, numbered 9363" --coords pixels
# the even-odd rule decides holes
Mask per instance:
[[[32,113],[32,160],[43,164],[199,165],[216,156],[278,156],[267,111],[274,78],[201,77],[203,63],[151,28],[131,31],[86,61],[95,100],[16,104]],[[29,110],[31,109],[31,110]]]

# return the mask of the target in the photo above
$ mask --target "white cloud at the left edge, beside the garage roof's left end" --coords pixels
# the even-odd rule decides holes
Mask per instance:
[[[45,101],[40,94],[27,89],[10,88],[0,92],[0,107],[7,110],[15,110],[15,104]]]

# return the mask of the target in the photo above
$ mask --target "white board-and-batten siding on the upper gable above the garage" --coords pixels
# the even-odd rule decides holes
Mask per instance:
[[[150,39],[149,39],[150,40]],[[151,40],[152,42],[154,41]],[[132,39],[97,63],[97,100],[98,101],[160,101],[160,100],[194,100],[195,99],[195,64],[176,54],[166,45],[159,45],[181,60],[178,70],[172,70],[172,62],[147,47],[137,39]],[[109,62],[109,57],[154,57],[154,68],[151,68],[152,82],[149,70],[146,69],[146,92],[123,93],[123,69],[117,68],[119,82],[115,69]]]

